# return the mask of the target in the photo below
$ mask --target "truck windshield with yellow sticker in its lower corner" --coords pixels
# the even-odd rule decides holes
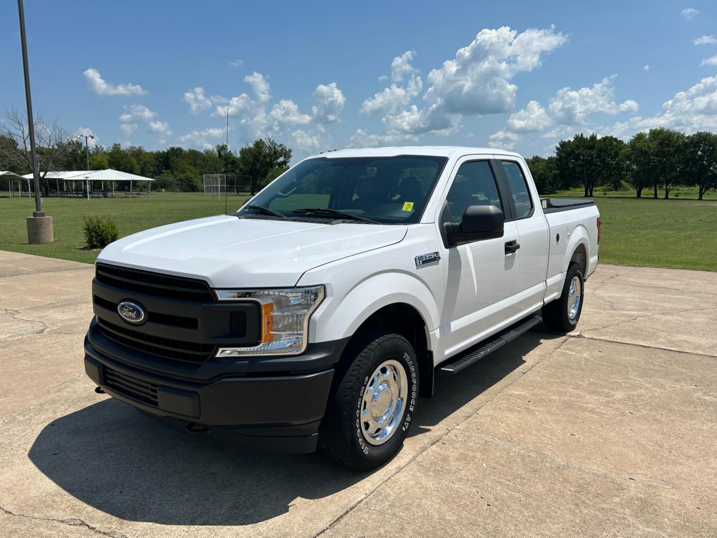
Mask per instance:
[[[249,205],[288,218],[354,215],[357,220],[379,224],[410,224],[421,218],[446,161],[445,157],[412,155],[308,159],[275,179]],[[240,212],[252,211],[244,207]]]

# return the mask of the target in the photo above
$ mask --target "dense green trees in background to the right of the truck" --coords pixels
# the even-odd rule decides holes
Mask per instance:
[[[582,187],[592,197],[596,187],[635,189],[637,198],[670,197],[675,187],[696,187],[699,199],[717,189],[717,134],[685,135],[666,128],[637,133],[625,142],[614,136],[576,134],[562,140],[554,156],[527,159],[541,194]]]

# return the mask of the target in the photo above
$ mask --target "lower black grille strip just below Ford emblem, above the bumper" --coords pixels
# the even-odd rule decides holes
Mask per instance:
[[[197,344],[196,342],[153,336],[111,324],[103,318],[98,318],[98,324],[100,331],[108,339],[158,357],[201,363],[214,354],[214,346],[210,344]]]

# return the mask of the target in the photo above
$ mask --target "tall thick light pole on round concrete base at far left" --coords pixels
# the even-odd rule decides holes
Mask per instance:
[[[25,10],[22,0],[17,0],[17,12],[20,19],[20,43],[22,44],[22,70],[25,78],[25,101],[27,105],[27,131],[30,138],[30,156],[32,158],[32,183],[35,190],[35,210],[27,217],[27,242],[32,244],[51,243],[52,217],[46,217],[40,202],[40,181],[37,171],[37,151],[35,151],[35,127],[32,123],[32,97],[30,96],[30,70],[27,65],[27,38],[25,36]]]

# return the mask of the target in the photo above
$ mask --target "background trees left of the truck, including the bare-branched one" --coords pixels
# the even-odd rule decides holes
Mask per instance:
[[[35,126],[40,187],[48,194],[54,182],[47,181],[47,172],[87,169],[85,141],[56,122],[46,123],[41,115],[35,118]],[[260,189],[288,169],[291,154],[290,148],[271,138],[256,140],[238,152],[226,144],[204,151],[179,146],[148,151],[142,146],[123,148],[114,143],[90,148],[89,164],[90,170],[111,168],[150,177],[155,180],[154,188],[166,191],[201,191],[202,174],[250,176],[255,189]],[[14,109],[6,112],[0,131],[0,170],[21,175],[32,171],[27,125]]]

